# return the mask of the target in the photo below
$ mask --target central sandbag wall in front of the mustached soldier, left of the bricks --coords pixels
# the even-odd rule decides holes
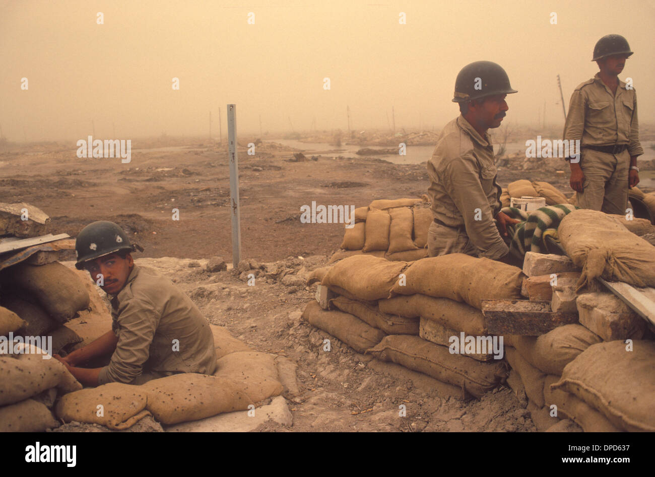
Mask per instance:
[[[319,277],[320,286],[335,295],[329,300],[335,310],[310,302],[303,317],[356,351],[476,397],[506,378],[502,344],[499,337],[488,336],[480,308],[485,298],[519,298],[519,268],[463,254],[411,263],[359,255],[310,280]],[[483,342],[483,349],[470,347],[471,341]]]

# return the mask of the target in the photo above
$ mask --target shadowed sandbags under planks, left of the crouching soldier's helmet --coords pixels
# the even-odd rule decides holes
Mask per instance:
[[[65,323],[89,305],[84,279],[60,262],[20,262],[0,272],[0,305],[24,324],[14,336],[52,336],[50,353],[65,355],[82,339]]]

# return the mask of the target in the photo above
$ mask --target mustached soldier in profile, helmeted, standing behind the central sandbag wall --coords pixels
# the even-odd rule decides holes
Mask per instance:
[[[428,161],[434,222],[428,255],[466,253],[506,260],[506,225],[519,221],[500,212],[496,159],[487,130],[498,128],[509,109],[505,97],[517,91],[500,65],[474,62],[455,80],[460,116],[449,122]],[[496,226],[496,222],[498,225]]]

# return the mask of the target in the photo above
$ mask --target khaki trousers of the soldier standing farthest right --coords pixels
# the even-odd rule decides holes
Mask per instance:
[[[578,192],[578,207],[624,215],[627,207],[630,154],[607,154],[582,149],[580,168],[584,173],[583,192]]]

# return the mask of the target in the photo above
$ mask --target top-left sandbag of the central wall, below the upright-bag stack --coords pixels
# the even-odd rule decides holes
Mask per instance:
[[[374,256],[350,256],[334,264],[321,285],[343,288],[358,300],[375,301],[387,298],[406,266],[405,262],[390,262]]]

